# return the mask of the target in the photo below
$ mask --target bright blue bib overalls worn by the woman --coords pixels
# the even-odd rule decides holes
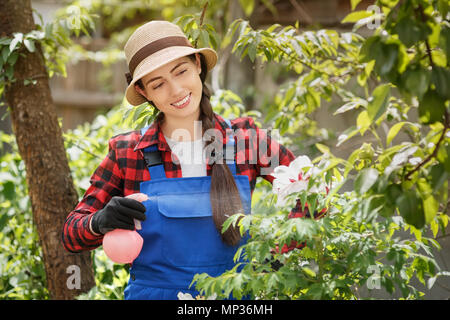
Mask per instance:
[[[226,121],[231,128],[229,120]],[[143,128],[144,135],[147,128]],[[227,144],[233,147],[234,137]],[[229,146],[229,147],[230,147]],[[130,268],[130,280],[125,299],[176,300],[178,292],[199,294],[195,285],[190,289],[196,273],[218,276],[235,266],[234,254],[248,237],[237,246],[221,240],[212,217],[210,202],[211,177],[166,178],[164,166],[158,158],[157,145],[144,149],[150,171],[149,181],[140,184],[146,220],[138,230],[144,239],[142,251]],[[234,157],[233,157],[234,159]],[[156,162],[156,165],[152,165]],[[251,211],[251,191],[246,175],[236,175],[235,161],[227,161],[246,214]]]

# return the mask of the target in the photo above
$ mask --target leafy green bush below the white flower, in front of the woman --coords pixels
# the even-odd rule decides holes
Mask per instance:
[[[373,186],[374,176],[370,172],[365,176],[361,179],[365,188]],[[273,207],[270,189],[260,186],[254,196],[259,206]],[[192,285],[202,295],[216,294],[218,299],[230,293],[238,299],[245,295],[252,299],[368,298],[359,293],[363,286],[391,294],[399,291],[403,298],[417,299],[423,293],[410,284],[413,278],[431,288],[437,277],[449,275],[433,258],[432,250],[440,249],[436,240],[423,236],[401,216],[378,216],[384,215],[384,198],[360,202],[355,191],[330,192],[322,197],[331,203],[325,218],[288,219],[293,200],[304,196],[312,203],[306,193],[295,193],[280,211],[257,210],[241,219],[242,234],[249,232],[251,236],[235,256],[236,260],[245,259],[242,270],[234,268],[218,277],[198,274]],[[224,229],[236,220],[228,219]],[[434,222],[445,228],[448,216],[440,214]],[[397,234],[400,230],[410,230],[414,237],[401,239]],[[291,241],[306,241],[306,247],[287,253],[273,250]],[[282,264],[278,270],[272,267],[276,260]]]

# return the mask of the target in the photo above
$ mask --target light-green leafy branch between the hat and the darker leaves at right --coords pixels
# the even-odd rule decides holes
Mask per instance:
[[[282,135],[313,125],[305,115],[320,108],[322,99],[330,101],[333,94],[347,93],[342,86],[364,69],[355,59],[363,40],[357,34],[338,34],[333,30],[299,34],[292,26],[279,25],[253,30],[244,20],[230,25],[224,41],[231,41],[236,34],[233,52],[241,58],[248,56],[254,61],[258,56],[263,63],[279,63],[297,75],[296,80],[281,86],[265,118]]]

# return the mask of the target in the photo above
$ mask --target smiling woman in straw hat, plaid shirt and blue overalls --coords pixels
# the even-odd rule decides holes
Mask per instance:
[[[126,43],[125,55],[127,100],[148,101],[160,112],[150,127],[110,139],[91,186],[67,217],[63,243],[70,252],[92,250],[106,232],[133,230],[138,219],[144,245],[130,269],[125,298],[177,299],[180,291],[195,296],[198,292],[188,288],[194,274],[217,276],[232,268],[234,253],[246,241],[236,228],[222,234],[223,222],[250,213],[256,178],[273,181],[262,173],[273,167],[270,160],[289,165],[294,155],[251,118],[230,122],[213,113],[205,78],[217,55],[193,48],[175,24],[141,26]],[[255,135],[258,139],[250,138]],[[270,156],[260,155],[261,143],[272,146]],[[125,198],[138,192],[149,200]],[[305,216],[300,208],[290,217]]]

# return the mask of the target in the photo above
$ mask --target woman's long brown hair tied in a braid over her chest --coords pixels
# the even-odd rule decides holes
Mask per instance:
[[[195,63],[195,54],[189,55]],[[200,119],[202,121],[203,133],[208,129],[214,128],[214,112],[210,103],[211,94],[208,87],[205,84],[207,76],[206,61],[202,54],[200,54],[201,73],[200,79],[202,81],[202,98],[200,100]],[[144,89],[142,81],[139,79],[136,81],[141,89]],[[152,104],[151,101],[149,101]],[[164,114],[160,112],[156,118],[156,121],[161,121],[164,118]],[[206,142],[209,145],[214,142],[214,137],[210,141]],[[215,162],[212,165],[211,174],[211,208],[213,214],[214,224],[219,231],[222,241],[228,245],[237,245],[241,240],[239,227],[231,225],[227,231],[222,233],[222,225],[229,217],[236,213],[243,213],[242,202],[239,196],[239,190],[234,181],[233,174],[230,168],[226,164],[225,159],[221,159],[220,163]]]

